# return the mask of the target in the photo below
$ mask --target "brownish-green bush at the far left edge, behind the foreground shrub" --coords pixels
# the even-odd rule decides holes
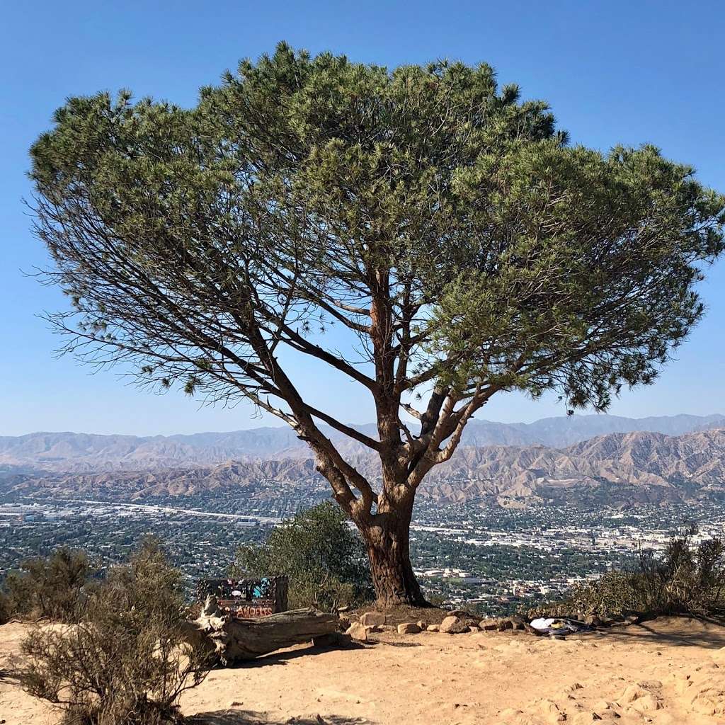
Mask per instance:
[[[59,547],[49,557],[25,560],[20,571],[9,572],[3,581],[7,617],[75,621],[93,574],[86,553],[67,547]]]

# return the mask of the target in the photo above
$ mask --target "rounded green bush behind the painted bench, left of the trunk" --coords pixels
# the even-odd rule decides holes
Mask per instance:
[[[289,577],[291,608],[335,610],[373,597],[368,559],[344,513],[324,502],[289,518],[260,545],[239,547],[232,576]]]

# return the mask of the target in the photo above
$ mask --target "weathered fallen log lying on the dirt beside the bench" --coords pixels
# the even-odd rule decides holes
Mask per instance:
[[[258,619],[237,619],[223,613],[209,597],[193,623],[195,639],[223,665],[253,660],[275,650],[334,639],[338,618],[316,609],[294,609]]]

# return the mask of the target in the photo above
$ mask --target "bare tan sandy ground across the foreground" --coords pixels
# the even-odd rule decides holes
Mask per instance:
[[[23,633],[0,626],[0,669]],[[352,649],[296,647],[213,671],[183,711],[194,725],[725,725],[725,629],[663,619],[565,641],[384,633]],[[57,720],[0,679],[0,723]]]

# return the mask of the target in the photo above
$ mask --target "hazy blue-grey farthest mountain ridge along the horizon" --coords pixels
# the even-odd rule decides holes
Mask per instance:
[[[543,418],[535,423],[471,421],[463,434],[468,447],[543,445],[563,448],[593,436],[647,431],[682,435],[725,426],[725,415],[674,415],[662,418],[619,418],[615,415],[572,415]],[[376,435],[372,423],[355,426]],[[346,455],[365,450],[332,428],[328,436]],[[101,436],[84,433],[31,433],[0,437],[0,475],[24,471],[94,473],[98,471],[158,471],[247,461],[305,459],[310,449],[289,427],[253,428],[231,433],[175,436]],[[3,471],[5,473],[3,474]]]

